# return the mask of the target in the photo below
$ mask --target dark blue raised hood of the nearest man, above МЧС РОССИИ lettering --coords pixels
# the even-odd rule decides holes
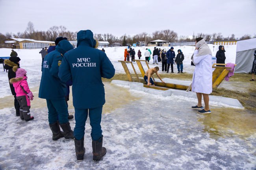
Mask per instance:
[[[77,46],[87,45],[91,48],[95,48],[97,41],[93,38],[93,32],[91,30],[81,30],[77,33]]]

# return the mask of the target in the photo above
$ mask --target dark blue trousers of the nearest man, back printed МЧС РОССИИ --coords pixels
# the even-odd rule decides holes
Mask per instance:
[[[97,141],[102,137],[102,130],[100,126],[101,122],[101,114],[102,114],[102,106],[93,109],[76,109],[75,108],[75,119],[76,126],[74,128],[74,136],[77,140],[83,138],[85,131],[85,122],[88,117],[90,118],[91,125],[91,139],[93,141]]]

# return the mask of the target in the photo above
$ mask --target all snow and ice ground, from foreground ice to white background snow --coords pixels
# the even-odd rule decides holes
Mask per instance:
[[[150,48],[151,51],[153,48]],[[210,48],[213,49],[211,45]],[[104,49],[116,73],[123,73],[117,60],[123,60],[124,47]],[[144,54],[145,47],[135,48],[136,53],[138,49]],[[174,47],[175,51],[178,49],[182,49],[185,55],[184,71],[192,73],[194,67],[190,66],[190,57],[193,47]],[[226,62],[234,63],[236,46],[225,49]],[[16,51],[21,58],[20,66],[28,71],[28,84],[35,96],[31,102],[31,114],[35,119],[24,122],[15,116],[7,73],[0,71],[0,170],[256,168],[254,114],[215,105],[211,106],[211,115],[198,115],[190,109],[196,104],[195,100],[185,100],[182,96],[153,95],[106,82],[102,130],[107,154],[98,163],[92,161],[91,127],[87,120],[85,160],[77,162],[73,140],[63,138],[52,141],[46,102],[37,97],[41,79],[40,49]],[[215,47],[213,55],[216,51]],[[0,49],[0,56],[9,56],[10,52],[10,49]],[[153,65],[150,64],[150,67]],[[74,114],[72,97],[69,105],[69,113]],[[71,120],[72,128],[74,124],[75,121]]]

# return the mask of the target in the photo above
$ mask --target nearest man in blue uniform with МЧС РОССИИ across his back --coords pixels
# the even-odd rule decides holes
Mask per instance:
[[[103,135],[100,126],[102,106],[105,103],[104,84],[101,78],[111,79],[115,69],[106,53],[97,48],[91,30],[77,33],[77,48],[68,51],[59,68],[63,82],[72,79],[73,105],[76,126],[74,128],[76,158],[83,160],[85,122],[89,113],[93,146],[93,161],[99,161],[105,154],[102,147]]]

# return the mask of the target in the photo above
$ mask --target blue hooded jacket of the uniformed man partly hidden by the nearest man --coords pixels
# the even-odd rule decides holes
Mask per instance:
[[[59,66],[63,55],[73,49],[67,40],[62,40],[55,50],[45,56],[42,66],[42,77],[39,87],[39,97],[43,99],[61,99],[65,97],[67,86],[58,77]]]

